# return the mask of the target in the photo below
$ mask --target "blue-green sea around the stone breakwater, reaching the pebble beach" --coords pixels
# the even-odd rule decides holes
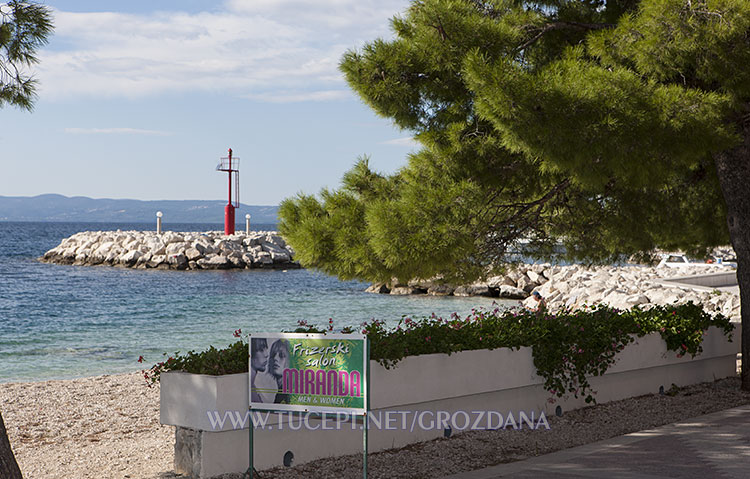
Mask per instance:
[[[276,225],[253,225],[274,230]],[[306,269],[165,271],[38,261],[80,231],[153,230],[154,224],[0,221],[0,382],[140,371],[164,354],[226,346],[233,333],[289,331],[298,321],[335,329],[404,316],[467,315],[515,301],[390,296],[367,283]],[[164,224],[216,231],[221,224]],[[139,357],[144,358],[138,363]]]

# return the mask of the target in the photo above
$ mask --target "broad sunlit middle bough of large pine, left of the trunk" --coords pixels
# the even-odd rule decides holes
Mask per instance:
[[[735,140],[716,128],[729,110],[724,95],[603,68],[581,48],[536,73],[507,60],[490,65],[476,54],[467,58],[466,71],[477,111],[508,149],[541,156],[545,168],[593,191],[613,178],[626,187],[668,185],[665,173],[689,168]],[[634,158],[641,160],[637,168]]]

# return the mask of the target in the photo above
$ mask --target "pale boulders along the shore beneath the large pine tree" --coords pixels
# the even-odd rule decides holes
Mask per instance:
[[[530,297],[539,291],[551,311],[578,309],[584,305],[609,304],[618,309],[633,306],[700,303],[709,312],[720,312],[730,318],[740,316],[740,298],[732,291],[694,290],[687,285],[663,284],[671,278],[734,270],[723,266],[655,268],[646,266],[551,266],[520,265],[505,275],[464,286],[450,286],[435,281],[410,281],[408,284],[373,284],[369,292],[381,294],[428,294],[454,296],[491,296],[521,299],[523,305],[535,307]]]

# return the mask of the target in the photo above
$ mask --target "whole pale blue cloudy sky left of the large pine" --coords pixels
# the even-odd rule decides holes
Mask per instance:
[[[407,0],[40,3],[55,31],[33,112],[0,110],[0,196],[224,199],[232,148],[242,203],[275,205],[417,148],[338,70]]]

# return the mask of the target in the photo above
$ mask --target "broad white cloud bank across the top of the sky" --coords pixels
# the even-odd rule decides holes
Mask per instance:
[[[180,92],[337,99],[324,92],[347,89],[338,71],[343,53],[390,37],[390,18],[407,6],[407,0],[230,0],[199,13],[56,10],[55,34],[39,54],[39,90],[48,99]]]

